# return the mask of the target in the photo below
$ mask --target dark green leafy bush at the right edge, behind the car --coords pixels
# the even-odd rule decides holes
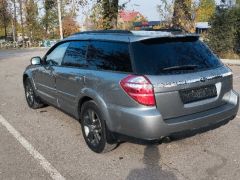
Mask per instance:
[[[217,13],[211,20],[209,46],[221,57],[240,55],[240,7]]]

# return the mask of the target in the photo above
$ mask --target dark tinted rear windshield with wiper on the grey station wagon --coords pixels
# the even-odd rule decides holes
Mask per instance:
[[[139,74],[188,73],[222,66],[197,37],[145,40],[133,43],[132,49]]]

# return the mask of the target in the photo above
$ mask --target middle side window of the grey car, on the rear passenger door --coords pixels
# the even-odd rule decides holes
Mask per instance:
[[[84,67],[86,63],[87,41],[73,41],[67,48],[62,65]]]

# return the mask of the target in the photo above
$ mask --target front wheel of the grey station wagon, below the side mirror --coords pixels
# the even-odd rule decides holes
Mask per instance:
[[[29,78],[24,81],[25,98],[27,104],[32,109],[38,109],[44,106],[44,103],[36,96],[34,88]]]

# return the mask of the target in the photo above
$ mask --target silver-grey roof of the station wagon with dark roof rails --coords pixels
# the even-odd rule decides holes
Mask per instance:
[[[107,40],[120,42],[137,42],[156,38],[198,37],[196,34],[186,34],[180,31],[87,31],[69,36],[64,40]]]

